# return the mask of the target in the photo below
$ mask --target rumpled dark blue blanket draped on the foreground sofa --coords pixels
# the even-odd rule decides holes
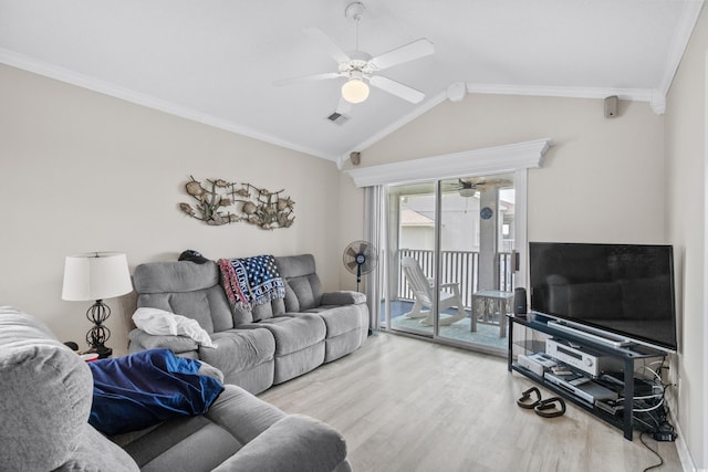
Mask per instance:
[[[88,422],[105,434],[201,415],[223,390],[219,379],[197,375],[201,363],[169,349],[150,349],[88,363],[93,405]]]

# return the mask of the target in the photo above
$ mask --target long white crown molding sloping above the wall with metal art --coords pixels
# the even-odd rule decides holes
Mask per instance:
[[[50,78],[54,78],[56,81],[75,85],[82,88],[87,88],[93,92],[101,93],[103,95],[108,95],[115,98],[124,99],[126,102],[145,106],[147,108],[175,115],[180,118],[189,119],[191,122],[201,123],[202,125],[212,126],[215,128],[223,129],[226,132],[236,133],[249,138],[258,139],[275,146],[292,149],[298,153],[303,153],[303,154],[319,157],[326,160],[333,160],[333,161],[336,160],[336,156],[323,154],[316,149],[299,146],[296,144],[285,141],[283,139],[279,139],[274,136],[259,133],[252,128],[238,125],[227,119],[218,118],[216,116],[212,116],[206,113],[197,112],[196,109],[176,105],[171,102],[155,98],[152,95],[124,88],[115,84],[112,84],[110,82],[105,82],[88,75],[80,74],[77,72],[73,72],[54,64],[37,61],[25,55],[18,54],[1,48],[0,48],[0,63],[10,65],[12,67],[21,69],[23,71],[32,72],[34,74],[43,75]]]

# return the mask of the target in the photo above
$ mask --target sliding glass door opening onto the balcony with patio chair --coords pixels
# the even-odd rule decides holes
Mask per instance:
[[[384,326],[503,352],[513,175],[389,186],[387,214]]]

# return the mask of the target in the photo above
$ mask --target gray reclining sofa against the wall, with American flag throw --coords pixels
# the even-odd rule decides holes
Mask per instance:
[[[133,277],[138,307],[196,319],[217,348],[137,328],[129,334],[129,350],[169,348],[219,368],[227,384],[258,394],[362,346],[368,335],[365,295],[323,293],[312,254],[275,258],[275,263],[284,298],[235,308],[214,261],[138,265]]]

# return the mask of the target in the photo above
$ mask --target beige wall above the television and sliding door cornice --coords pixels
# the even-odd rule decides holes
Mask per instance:
[[[607,119],[603,106],[469,95],[365,149],[362,166],[550,138],[542,168],[529,171],[529,240],[666,242],[664,118],[646,103],[621,102]]]

